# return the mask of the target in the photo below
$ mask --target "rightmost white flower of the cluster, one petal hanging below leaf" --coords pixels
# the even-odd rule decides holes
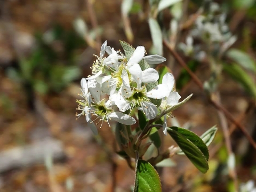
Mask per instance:
[[[175,82],[175,80],[171,73],[166,73],[163,76],[162,83],[168,86],[167,97],[163,98],[162,103],[161,103],[161,108],[163,108],[163,109],[167,109],[167,108],[177,105],[179,103],[179,99],[181,97],[178,92],[173,91],[174,82]],[[167,135],[167,114],[164,115],[163,132],[165,135]]]

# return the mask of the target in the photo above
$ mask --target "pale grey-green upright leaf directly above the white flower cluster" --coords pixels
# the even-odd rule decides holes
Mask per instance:
[[[157,54],[163,55],[163,35],[162,30],[156,19],[149,18],[149,29],[153,45],[157,50]]]

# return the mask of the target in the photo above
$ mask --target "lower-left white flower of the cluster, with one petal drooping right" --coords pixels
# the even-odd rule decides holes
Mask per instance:
[[[96,125],[101,123],[102,127],[103,121],[109,124],[109,120],[113,120],[125,125],[133,125],[136,123],[135,119],[130,115],[123,114],[119,111],[113,110],[114,103],[111,100],[106,101],[106,99],[100,99],[100,84],[95,79],[89,79],[88,82],[83,78],[81,80],[82,92],[86,95],[83,98],[90,99],[78,102],[78,110],[82,110],[81,114],[77,116],[85,115],[86,121],[89,123],[91,130],[94,134],[98,134],[97,127],[94,122],[97,121]],[[94,115],[96,118],[92,121],[91,116]]]

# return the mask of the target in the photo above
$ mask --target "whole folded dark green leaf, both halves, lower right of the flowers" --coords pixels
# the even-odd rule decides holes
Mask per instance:
[[[206,173],[209,170],[208,149],[195,133],[180,127],[171,127],[167,132],[199,171]]]

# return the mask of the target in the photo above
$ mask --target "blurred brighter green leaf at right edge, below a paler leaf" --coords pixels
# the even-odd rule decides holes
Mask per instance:
[[[253,79],[244,71],[244,69],[235,64],[223,64],[223,70],[228,73],[237,82],[241,83],[244,89],[256,98],[256,86]]]

